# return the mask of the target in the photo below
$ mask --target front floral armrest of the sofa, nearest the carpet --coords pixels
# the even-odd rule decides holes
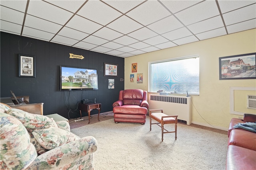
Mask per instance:
[[[84,137],[39,155],[27,169],[92,170],[92,153],[97,150],[97,146],[94,137]]]

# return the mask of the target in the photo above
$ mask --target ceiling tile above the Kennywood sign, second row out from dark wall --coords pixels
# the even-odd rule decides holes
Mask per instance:
[[[72,39],[77,39],[77,40],[82,40],[85,37],[88,37],[89,34],[81,32],[81,31],[77,31],[75,29],[71,29],[69,27],[63,27],[60,32],[58,33],[58,35],[62,35],[64,37],[68,37],[68,38],[72,38]]]

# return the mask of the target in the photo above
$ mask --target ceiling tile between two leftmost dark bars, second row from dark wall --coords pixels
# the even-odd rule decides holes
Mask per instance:
[[[26,15],[26,20],[25,24],[26,27],[31,27],[35,29],[39,29],[42,31],[47,31],[49,33],[57,33],[60,28],[62,27],[61,25],[58,25],[56,23],[42,20],[40,18],[36,18],[34,16]]]

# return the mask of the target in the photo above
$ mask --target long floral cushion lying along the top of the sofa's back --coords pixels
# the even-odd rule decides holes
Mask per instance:
[[[27,129],[57,127],[52,118],[44,115],[36,115],[20,109],[8,109],[7,113],[19,119]]]

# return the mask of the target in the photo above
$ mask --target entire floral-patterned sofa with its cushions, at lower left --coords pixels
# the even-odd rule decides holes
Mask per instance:
[[[55,122],[0,103],[0,169],[92,170],[94,137],[80,138]]]

